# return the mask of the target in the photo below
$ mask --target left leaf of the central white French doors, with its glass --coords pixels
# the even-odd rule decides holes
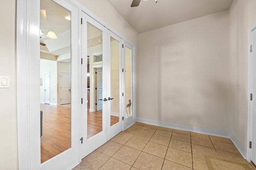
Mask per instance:
[[[82,56],[89,56],[92,61],[94,53],[102,53],[102,109],[89,112],[86,102],[82,104],[81,115],[81,155],[82,158],[96,150],[107,141],[107,94],[106,94],[106,32],[100,23],[82,13]],[[84,61],[87,62],[87,58]],[[92,63],[90,63],[90,92],[95,92],[95,77]],[[97,73],[98,74],[98,73]],[[96,92],[95,92],[96,93]],[[87,99],[87,63],[82,64],[82,98]],[[104,100],[105,98],[105,100]],[[90,101],[93,103],[95,101]]]

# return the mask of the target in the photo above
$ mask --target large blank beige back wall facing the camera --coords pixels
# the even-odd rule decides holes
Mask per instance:
[[[139,34],[137,117],[230,131],[228,11]]]

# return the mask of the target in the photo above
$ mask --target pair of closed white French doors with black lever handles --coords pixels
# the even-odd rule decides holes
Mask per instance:
[[[102,53],[102,57],[96,58],[95,53]],[[82,98],[86,99],[87,90],[90,91],[90,107],[86,102],[82,104],[81,153],[84,158],[122,131],[122,39],[82,13],[82,56],[89,57],[86,60],[89,63],[82,64]],[[90,75],[89,87],[87,75]],[[89,109],[94,104],[97,109]]]

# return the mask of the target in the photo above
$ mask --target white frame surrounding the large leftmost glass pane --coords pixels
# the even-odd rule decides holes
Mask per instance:
[[[56,0],[54,0],[56,1]],[[79,10],[74,4],[58,0],[58,4],[71,10],[71,42],[72,42],[72,149],[62,153],[77,152],[72,158],[72,164],[66,164],[64,154],[41,164],[40,158],[40,0],[17,0],[17,40],[16,40],[16,70],[17,70],[17,135],[18,135],[18,169],[40,170],[51,169],[50,164],[55,164],[55,169],[71,169],[80,162],[79,137],[80,112],[79,89],[80,79],[78,70],[80,68],[78,31]],[[64,5],[65,4],[65,5]],[[72,65],[73,65],[72,64]],[[34,114],[38,112],[38,114]],[[55,161],[63,160],[64,165]],[[63,167],[65,168],[63,168]]]

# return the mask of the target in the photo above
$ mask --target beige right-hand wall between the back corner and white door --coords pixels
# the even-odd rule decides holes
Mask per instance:
[[[255,0],[234,0],[230,7],[230,132],[247,147],[248,28],[256,22]]]

